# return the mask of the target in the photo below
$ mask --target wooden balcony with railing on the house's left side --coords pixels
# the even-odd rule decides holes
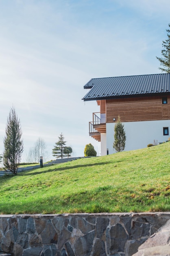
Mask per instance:
[[[89,122],[89,135],[97,141],[101,141],[100,133],[104,132],[106,132],[106,114],[93,113],[93,121]]]

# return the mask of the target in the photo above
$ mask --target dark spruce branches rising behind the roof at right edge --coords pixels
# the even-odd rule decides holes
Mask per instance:
[[[161,50],[161,53],[163,58],[157,57],[157,59],[160,61],[160,65],[163,66],[159,67],[159,69],[163,72],[170,73],[170,29],[166,29],[166,31],[168,32],[168,39],[162,43],[163,49]]]

